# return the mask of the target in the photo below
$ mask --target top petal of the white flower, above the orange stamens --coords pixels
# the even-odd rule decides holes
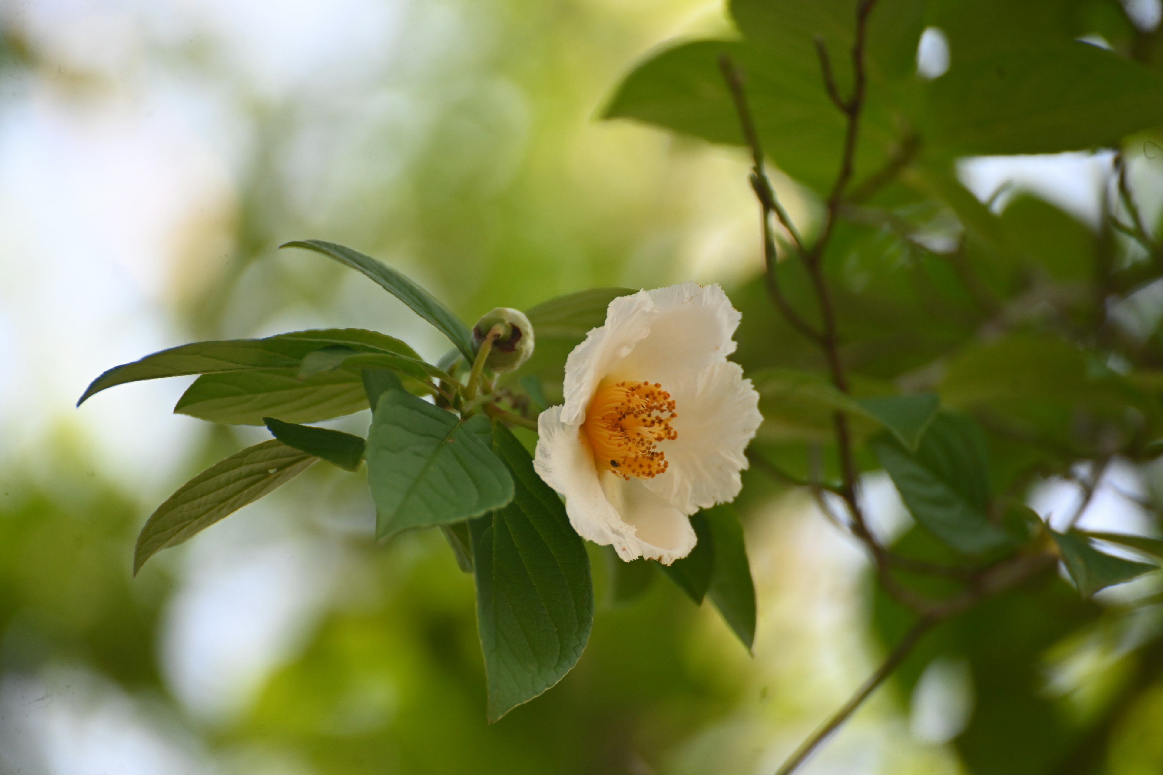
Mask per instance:
[[[608,379],[657,381],[669,390],[666,380],[721,363],[735,352],[732,336],[742,315],[718,285],[684,282],[645,293],[657,309],[649,321],[650,333],[625,358],[611,363]]]

